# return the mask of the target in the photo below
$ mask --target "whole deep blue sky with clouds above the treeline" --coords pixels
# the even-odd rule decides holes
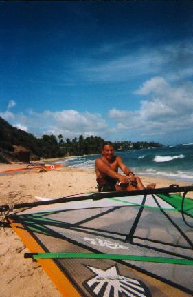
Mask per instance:
[[[0,1],[0,116],[36,136],[193,141],[192,1]]]

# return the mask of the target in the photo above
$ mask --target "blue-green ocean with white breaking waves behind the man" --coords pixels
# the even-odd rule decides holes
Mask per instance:
[[[124,163],[143,176],[157,176],[193,183],[193,143],[115,152]],[[94,156],[78,156],[63,161],[65,166],[94,170]]]

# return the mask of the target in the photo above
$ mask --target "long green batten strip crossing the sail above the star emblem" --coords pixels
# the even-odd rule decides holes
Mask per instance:
[[[176,259],[176,258],[163,258],[163,257],[149,257],[137,255],[120,255],[120,254],[91,254],[91,253],[38,253],[25,255],[25,258],[38,259],[109,259],[109,260],[130,260],[140,262],[153,262],[153,263],[168,263],[179,265],[193,265],[193,260]]]

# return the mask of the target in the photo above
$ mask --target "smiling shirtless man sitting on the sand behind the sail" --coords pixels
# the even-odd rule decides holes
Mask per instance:
[[[118,173],[118,168],[123,174]],[[114,155],[113,143],[107,141],[102,145],[102,157],[95,161],[95,173],[99,192],[105,191],[131,191],[145,189],[141,178],[127,167],[120,156]],[[155,183],[147,185],[155,188]]]

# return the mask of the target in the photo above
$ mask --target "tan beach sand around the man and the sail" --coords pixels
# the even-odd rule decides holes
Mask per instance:
[[[26,167],[21,164],[1,164],[2,170]],[[157,187],[170,184],[190,185],[179,181],[141,176],[144,185]],[[95,172],[62,167],[40,172],[30,170],[20,174],[0,175],[0,205],[36,201],[35,196],[61,198],[71,194],[96,192]],[[24,259],[29,252],[12,229],[0,231],[0,297],[58,297],[60,293],[38,263]]]

